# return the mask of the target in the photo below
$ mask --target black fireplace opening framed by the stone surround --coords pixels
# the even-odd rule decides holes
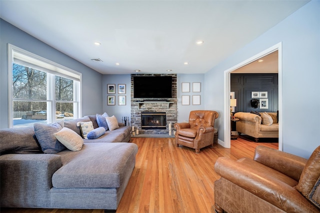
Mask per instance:
[[[165,112],[141,112],[141,129],[166,129]]]

